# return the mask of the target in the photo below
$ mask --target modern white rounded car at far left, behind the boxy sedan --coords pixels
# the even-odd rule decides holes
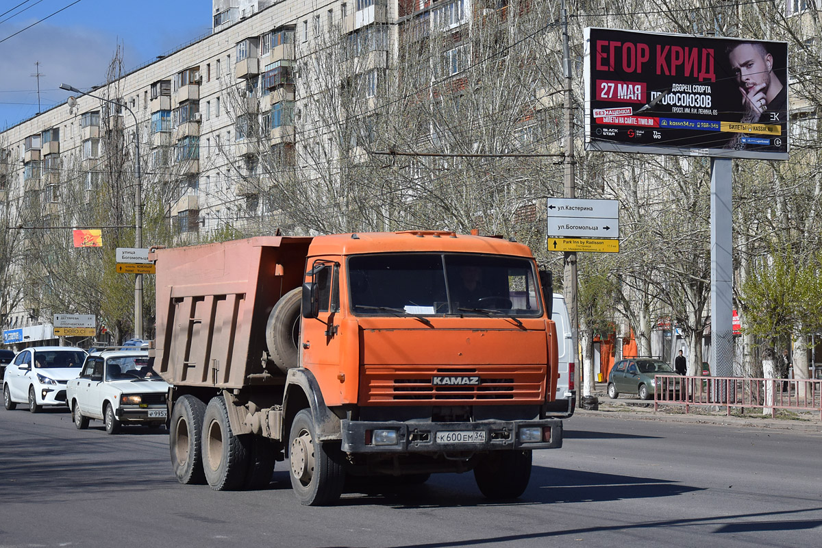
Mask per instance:
[[[87,354],[75,347],[24,348],[6,366],[3,403],[8,410],[27,403],[30,412],[66,404],[66,383],[80,374]]]

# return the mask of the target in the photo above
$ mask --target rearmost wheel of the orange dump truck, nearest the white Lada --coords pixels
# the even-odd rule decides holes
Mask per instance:
[[[169,423],[171,466],[177,480],[186,485],[205,483],[200,444],[205,403],[194,396],[181,396],[175,403]]]

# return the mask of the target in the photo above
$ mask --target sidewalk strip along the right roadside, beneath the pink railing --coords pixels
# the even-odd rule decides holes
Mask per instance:
[[[653,400],[643,401],[638,398],[630,398],[625,394],[622,394],[617,399],[608,398],[606,383],[595,383],[593,395],[599,399],[598,411],[588,411],[578,407],[576,408],[575,414],[585,417],[612,417],[690,424],[752,426],[774,430],[822,433],[822,422],[819,421],[818,417],[772,419],[770,416],[746,415],[745,417],[739,417],[734,414],[728,417],[725,408],[701,406],[691,407],[686,414],[685,407],[681,405],[660,405],[659,411],[654,412]],[[732,411],[732,413],[734,412]],[[569,420],[573,421],[573,417]]]

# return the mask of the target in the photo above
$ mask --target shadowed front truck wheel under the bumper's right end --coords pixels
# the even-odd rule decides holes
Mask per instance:
[[[531,479],[530,451],[495,451],[473,469],[479,490],[489,499],[515,499]]]

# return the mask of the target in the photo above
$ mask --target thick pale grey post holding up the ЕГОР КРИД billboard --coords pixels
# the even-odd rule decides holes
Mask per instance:
[[[730,159],[711,159],[711,375],[733,375],[733,239]],[[697,367],[700,364],[696,364]],[[699,375],[699,369],[695,375]]]

